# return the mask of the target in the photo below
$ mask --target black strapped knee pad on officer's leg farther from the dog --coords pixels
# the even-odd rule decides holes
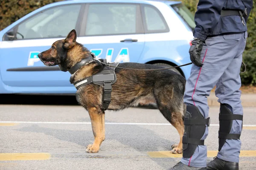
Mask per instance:
[[[243,121],[243,115],[233,114],[230,109],[227,107],[227,104],[221,104],[220,114],[219,114],[219,148],[218,151],[221,151],[221,148],[226,142],[226,139],[240,139],[241,134],[230,134],[232,128],[233,120]]]

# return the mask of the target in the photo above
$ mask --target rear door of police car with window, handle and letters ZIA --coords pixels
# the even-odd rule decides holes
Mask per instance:
[[[137,62],[144,48],[140,5],[88,3],[77,40],[97,58],[108,62]]]

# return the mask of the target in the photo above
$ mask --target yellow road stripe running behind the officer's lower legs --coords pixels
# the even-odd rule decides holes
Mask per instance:
[[[207,157],[217,156],[217,150],[210,150],[207,152]],[[182,158],[182,154],[173,154],[170,151],[148,152],[148,156],[152,158]],[[241,150],[240,157],[256,156],[256,150]]]

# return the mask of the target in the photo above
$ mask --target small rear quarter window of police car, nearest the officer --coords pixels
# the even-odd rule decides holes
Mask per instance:
[[[163,32],[166,31],[167,25],[162,14],[156,8],[144,6],[145,25],[147,32]]]

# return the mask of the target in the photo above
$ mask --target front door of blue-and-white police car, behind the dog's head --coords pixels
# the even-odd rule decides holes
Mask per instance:
[[[37,54],[78,28],[84,6],[67,4],[47,8],[13,27],[10,31],[15,34],[14,39],[7,37],[9,31],[0,45],[3,83],[23,87],[72,86],[68,72],[57,71],[58,66],[44,66]]]

